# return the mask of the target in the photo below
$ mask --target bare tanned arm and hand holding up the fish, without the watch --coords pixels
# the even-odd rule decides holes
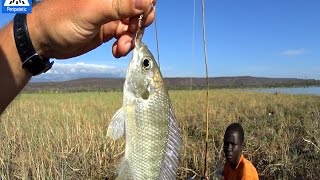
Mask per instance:
[[[155,0],[113,2],[54,0],[43,1],[32,7],[32,13],[27,15],[27,27],[34,51],[46,57],[45,60],[67,59],[82,55],[103,42],[116,38],[112,47],[113,55],[115,57],[127,55],[134,47],[137,16],[147,15],[144,26],[150,25],[154,19],[151,4],[154,5]],[[23,50],[21,52],[22,59],[32,60],[24,57]],[[33,66],[32,63],[30,66],[39,67]],[[30,71],[30,67],[26,65],[25,67]],[[33,70],[30,72],[35,75],[38,73]],[[13,24],[10,23],[0,30],[0,114],[30,80],[30,72],[22,68],[13,37]]]

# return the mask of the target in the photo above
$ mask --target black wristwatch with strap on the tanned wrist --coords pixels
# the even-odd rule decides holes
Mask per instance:
[[[34,49],[29,36],[26,17],[26,14],[15,15],[13,20],[14,40],[22,62],[22,68],[36,76],[51,69],[54,62],[50,62],[49,58],[39,55]]]

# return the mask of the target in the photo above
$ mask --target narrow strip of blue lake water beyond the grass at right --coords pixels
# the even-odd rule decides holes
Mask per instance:
[[[296,87],[296,88],[257,88],[255,92],[283,93],[283,94],[308,94],[320,96],[320,87]]]

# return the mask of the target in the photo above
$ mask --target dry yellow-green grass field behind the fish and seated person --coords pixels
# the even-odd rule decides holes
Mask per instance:
[[[170,91],[183,138],[177,179],[204,166],[205,91]],[[320,97],[209,93],[209,173],[223,168],[223,133],[238,121],[261,179],[320,177]],[[1,179],[114,179],[124,140],[106,137],[121,92],[21,94],[1,116]]]

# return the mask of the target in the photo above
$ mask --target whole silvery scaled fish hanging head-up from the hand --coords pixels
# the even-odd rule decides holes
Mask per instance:
[[[117,179],[176,179],[181,135],[160,69],[136,42],[123,88],[123,105],[112,117],[107,135],[125,135],[125,156]]]

